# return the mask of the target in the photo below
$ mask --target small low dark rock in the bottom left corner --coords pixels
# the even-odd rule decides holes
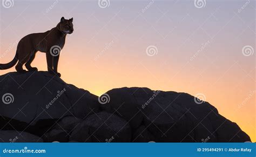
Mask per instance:
[[[41,138],[27,132],[0,131],[0,142],[43,142]]]

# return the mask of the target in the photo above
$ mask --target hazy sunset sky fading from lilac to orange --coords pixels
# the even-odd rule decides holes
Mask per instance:
[[[1,7],[0,63],[14,58],[22,37],[73,17],[58,66],[66,83],[96,95],[124,86],[186,92],[256,141],[255,1],[105,2],[13,1]],[[38,52],[32,66],[46,71],[45,53]]]

